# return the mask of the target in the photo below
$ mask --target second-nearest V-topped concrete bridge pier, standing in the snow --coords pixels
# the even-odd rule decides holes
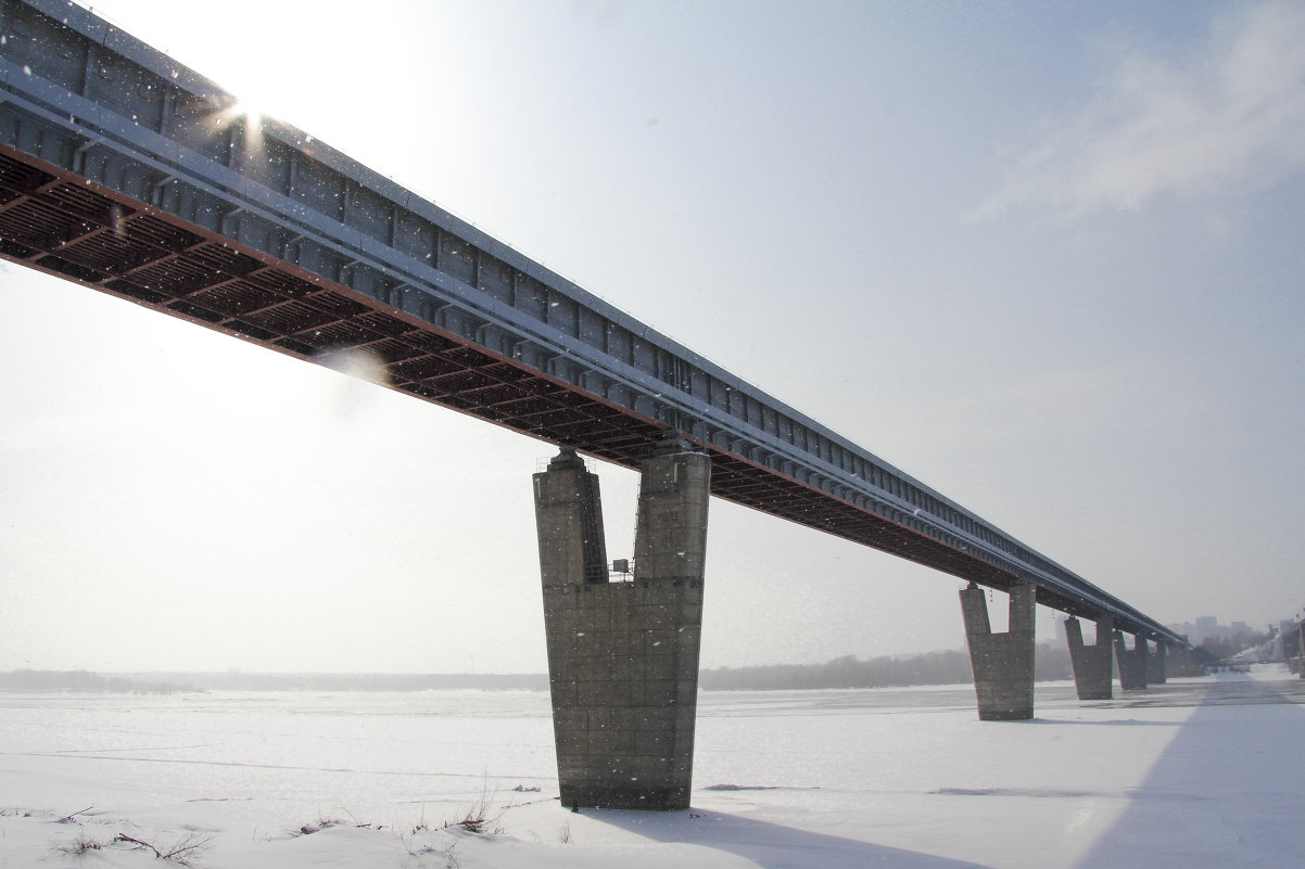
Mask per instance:
[[[1010,624],[992,633],[984,590],[970,583],[960,591],[960,612],[970,642],[979,720],[1013,722],[1034,716],[1034,611],[1036,588],[1010,588]]]

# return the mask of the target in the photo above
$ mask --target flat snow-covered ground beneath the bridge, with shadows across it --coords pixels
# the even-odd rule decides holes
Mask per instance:
[[[692,812],[574,814],[543,693],[0,693],[0,866],[1305,865],[1298,680],[1117,694],[705,693]]]

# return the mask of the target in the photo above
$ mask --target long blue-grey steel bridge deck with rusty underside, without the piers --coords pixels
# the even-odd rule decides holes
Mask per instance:
[[[937,491],[65,0],[0,0],[0,256],[983,586],[1184,638]]]

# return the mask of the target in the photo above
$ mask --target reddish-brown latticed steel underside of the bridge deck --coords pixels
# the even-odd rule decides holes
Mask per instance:
[[[304,360],[365,351],[392,389],[553,444],[638,467],[664,423],[497,356],[339,283],[0,146],[0,256]],[[701,444],[711,493],[1006,590],[1014,577],[967,552],[774,468]],[[1095,617],[1039,586],[1037,602]]]

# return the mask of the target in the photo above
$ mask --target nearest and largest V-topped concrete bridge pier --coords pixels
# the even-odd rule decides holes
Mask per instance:
[[[641,475],[633,582],[608,581],[598,478],[574,450],[535,475],[565,806],[689,808],[711,459],[676,440]]]

